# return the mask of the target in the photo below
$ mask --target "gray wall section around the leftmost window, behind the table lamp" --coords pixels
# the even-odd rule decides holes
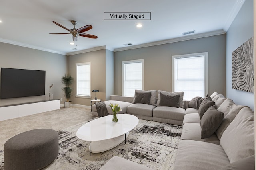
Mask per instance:
[[[91,62],[91,91],[98,89],[97,98],[106,100],[106,50],[91,51],[82,54],[68,56],[69,74],[76,79],[76,63]],[[94,99],[95,92],[91,92],[91,98],[76,97],[76,82],[72,84],[73,96],[71,101],[73,104],[90,106],[90,100]]]

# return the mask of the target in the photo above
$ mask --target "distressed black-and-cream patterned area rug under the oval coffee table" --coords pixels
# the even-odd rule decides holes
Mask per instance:
[[[98,170],[113,156],[119,156],[155,170],[172,170],[182,132],[181,126],[139,120],[126,139],[117,147],[89,155],[89,142],[76,137],[80,123],[58,131],[59,154],[44,170]],[[3,170],[3,151],[0,151]]]

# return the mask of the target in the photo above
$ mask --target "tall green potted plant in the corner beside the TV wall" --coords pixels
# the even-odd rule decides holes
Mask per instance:
[[[65,102],[65,108],[69,108],[71,106],[71,101],[69,100],[72,96],[72,88],[70,86],[74,82],[74,78],[72,78],[69,74],[65,74],[65,76],[61,78],[61,82],[65,86],[62,88],[62,91],[65,93],[64,96],[67,99]]]

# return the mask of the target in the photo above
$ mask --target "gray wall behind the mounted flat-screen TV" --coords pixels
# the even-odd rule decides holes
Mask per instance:
[[[48,100],[49,86],[51,84],[54,84],[50,91],[54,95],[54,98],[63,98],[60,88],[62,86],[60,79],[68,70],[66,55],[1,42],[0,51],[0,67],[46,71],[46,89],[44,96],[2,99],[0,100],[1,106]]]

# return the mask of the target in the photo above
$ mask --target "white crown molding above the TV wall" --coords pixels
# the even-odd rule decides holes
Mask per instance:
[[[57,54],[66,55],[66,53],[63,53],[63,52],[60,52],[60,51],[54,51],[54,50],[51,50],[51,49],[46,49],[46,48],[42,48],[42,47],[38,47],[38,46],[34,46],[34,45],[25,44],[25,43],[20,43],[20,42],[17,42],[17,41],[11,41],[11,40],[8,40],[8,39],[3,39],[3,38],[0,38],[0,42],[12,44],[12,45],[18,45],[18,46],[21,46],[21,47],[27,47],[27,48],[30,48],[30,49],[47,51],[47,52],[50,52],[50,53],[57,53]]]

